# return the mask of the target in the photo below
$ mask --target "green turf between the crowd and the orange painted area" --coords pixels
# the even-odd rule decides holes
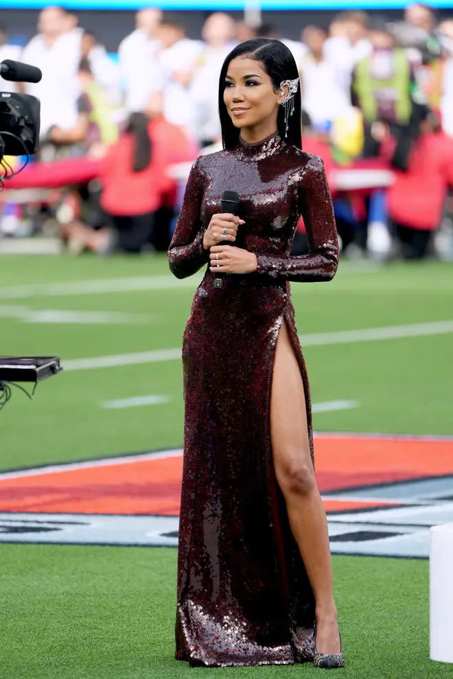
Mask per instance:
[[[367,268],[368,267],[368,268]],[[301,335],[453,319],[452,266],[408,263],[373,268],[341,263],[332,283],[292,285]],[[56,295],[55,288],[10,286],[164,276],[165,256],[0,257],[0,315],[12,307],[139,314],[134,322],[23,322],[2,318],[2,354],[57,354],[65,361],[180,348],[194,289]],[[120,285],[121,287],[121,285]],[[14,290],[12,291],[14,293]],[[3,311],[2,311],[3,309]],[[314,414],[318,431],[453,434],[452,335],[307,346],[314,403],[351,400],[355,409]],[[234,350],[231,348],[230,350]],[[178,447],[183,442],[181,360],[62,372],[39,385],[34,401],[13,392],[1,413],[0,468]],[[105,401],[163,394],[169,403],[106,410]],[[26,430],[24,428],[26,422]],[[24,431],[28,432],[24,436]],[[30,435],[33,432],[33,435]]]

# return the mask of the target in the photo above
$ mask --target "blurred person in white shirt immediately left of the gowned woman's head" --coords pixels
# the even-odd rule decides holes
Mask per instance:
[[[221,139],[218,92],[213,83],[218,82],[225,58],[237,45],[235,34],[235,21],[224,12],[211,14],[202,27],[204,43],[189,88],[196,116],[195,132],[202,146]]]

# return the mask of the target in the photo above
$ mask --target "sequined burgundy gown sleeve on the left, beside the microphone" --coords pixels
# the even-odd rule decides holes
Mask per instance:
[[[187,278],[209,262],[210,251],[203,248],[205,229],[200,216],[202,197],[203,184],[197,158],[191,167],[178,222],[168,249],[170,271],[176,278]]]

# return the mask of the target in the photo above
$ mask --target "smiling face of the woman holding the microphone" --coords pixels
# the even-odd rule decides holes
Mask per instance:
[[[223,100],[236,128],[253,128],[268,121],[275,123],[281,91],[274,92],[262,64],[248,57],[235,57],[229,63]]]

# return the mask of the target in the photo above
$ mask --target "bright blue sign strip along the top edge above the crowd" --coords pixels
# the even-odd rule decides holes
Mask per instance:
[[[69,10],[244,10],[245,0],[66,0],[58,5]],[[262,10],[402,10],[406,0],[255,0]],[[451,9],[452,0],[425,0],[433,8]],[[3,9],[36,10],[49,6],[46,0],[2,0]]]

